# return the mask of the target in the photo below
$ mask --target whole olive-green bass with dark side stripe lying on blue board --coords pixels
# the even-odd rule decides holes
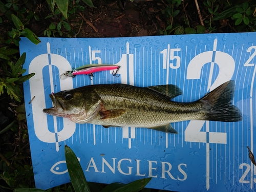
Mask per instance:
[[[103,127],[145,127],[166,133],[177,131],[170,123],[186,120],[237,122],[242,113],[232,104],[234,81],[230,80],[194,102],[176,102],[182,94],[173,84],[135,87],[97,84],[50,94],[53,107],[44,113],[75,123]]]

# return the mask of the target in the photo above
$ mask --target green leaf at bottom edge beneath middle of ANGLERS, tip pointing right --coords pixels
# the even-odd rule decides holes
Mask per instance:
[[[147,183],[151,181],[151,179],[152,178],[139,179],[112,190],[112,192],[138,192],[139,190],[143,189]]]

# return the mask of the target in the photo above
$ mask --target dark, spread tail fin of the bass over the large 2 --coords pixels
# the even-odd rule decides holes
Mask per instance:
[[[223,83],[205,95],[200,102],[205,106],[204,120],[234,122],[242,120],[241,111],[231,104],[234,95],[234,81]]]

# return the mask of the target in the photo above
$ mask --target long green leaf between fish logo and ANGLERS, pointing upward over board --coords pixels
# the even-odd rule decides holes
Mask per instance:
[[[70,180],[75,192],[90,192],[88,183],[86,181],[86,177],[84,177],[82,167],[79,161],[77,160],[75,153],[67,145],[65,145],[65,157]]]

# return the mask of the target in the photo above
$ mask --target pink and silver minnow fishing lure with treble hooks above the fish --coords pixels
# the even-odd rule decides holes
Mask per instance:
[[[85,65],[85,66],[81,66],[79,68],[73,69],[72,71],[66,71],[65,73],[61,74],[61,76],[73,77],[74,78],[76,75],[84,74],[84,75],[89,75],[90,79],[91,79],[91,77],[93,77],[94,72],[114,69],[116,71],[112,72],[113,76],[119,77],[120,74],[117,76],[117,71],[119,70],[120,67],[121,66],[101,65],[101,64]]]

